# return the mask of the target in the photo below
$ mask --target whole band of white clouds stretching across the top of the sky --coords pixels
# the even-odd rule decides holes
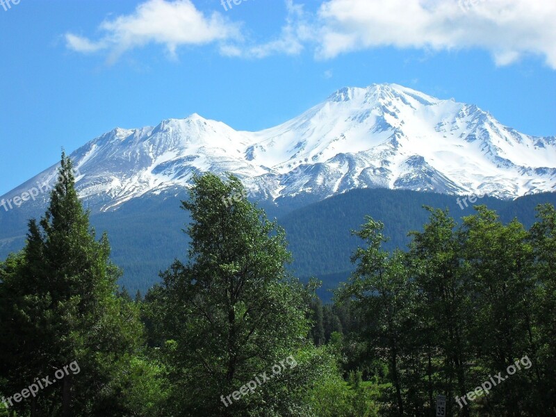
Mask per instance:
[[[537,55],[556,69],[555,0],[323,0],[316,13],[286,0],[286,9],[281,31],[260,43],[245,40],[240,24],[217,12],[206,15],[191,0],[147,0],[130,15],[103,22],[99,40],[74,33],[65,39],[69,49],[105,50],[111,60],[149,43],[162,44],[170,56],[183,45],[216,43],[220,54],[243,58],[309,48],[324,59],[379,47],[480,48],[497,65]]]

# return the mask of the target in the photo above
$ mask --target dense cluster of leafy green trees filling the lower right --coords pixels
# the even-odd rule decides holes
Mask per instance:
[[[357,232],[366,247],[354,252],[357,268],[337,299],[368,320],[347,334],[344,368],[384,383],[385,416],[430,416],[438,394],[448,398],[448,416],[552,416],[554,207],[539,206],[530,231],[486,206],[459,225],[448,211],[427,211],[407,253],[383,250],[384,226],[372,218]],[[522,358],[531,366],[507,375]],[[498,371],[508,376],[503,384],[455,400]]]

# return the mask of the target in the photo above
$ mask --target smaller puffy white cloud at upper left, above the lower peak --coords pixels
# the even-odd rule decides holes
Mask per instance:
[[[163,44],[170,56],[182,45],[202,45],[240,39],[239,27],[219,13],[204,15],[190,0],[148,0],[131,15],[101,23],[104,36],[89,40],[66,33],[69,49],[82,53],[108,50],[114,60],[124,51],[149,43]]]

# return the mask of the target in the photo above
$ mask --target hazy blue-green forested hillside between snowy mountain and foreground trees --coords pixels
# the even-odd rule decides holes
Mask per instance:
[[[130,293],[142,293],[158,282],[160,265],[179,258],[185,259],[183,245],[188,236],[181,233],[189,221],[188,214],[179,209],[185,192],[166,199],[139,199],[122,206],[120,211],[92,215],[91,222],[99,231],[113,236],[112,259],[124,270],[120,284]],[[277,218],[286,230],[288,250],[293,254],[290,267],[298,277],[316,276],[325,286],[334,281],[334,275],[343,279],[352,270],[350,255],[357,246],[351,234],[359,229],[365,215],[381,220],[389,241],[388,250],[405,248],[411,230],[420,230],[427,220],[423,205],[449,208],[459,222],[461,217],[473,213],[473,205],[461,210],[457,198],[438,193],[418,193],[409,190],[352,190],[306,207],[282,208],[264,203],[270,218]],[[464,197],[460,197],[463,199]],[[525,226],[534,222],[534,207],[550,202],[556,204],[555,193],[544,193],[505,201],[491,197],[478,199],[476,204],[486,204],[500,213],[504,222],[518,218]],[[300,202],[296,203],[299,206]],[[320,291],[323,297],[325,293]]]

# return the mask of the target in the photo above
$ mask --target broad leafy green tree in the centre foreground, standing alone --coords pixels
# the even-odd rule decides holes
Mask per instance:
[[[183,202],[191,215],[189,261],[162,274],[158,298],[177,415],[248,416],[263,405],[268,416],[295,415],[299,379],[272,379],[240,400],[229,397],[295,357],[309,331],[304,288],[285,268],[284,230],[247,199],[234,198],[240,195],[236,177],[195,177]]]

